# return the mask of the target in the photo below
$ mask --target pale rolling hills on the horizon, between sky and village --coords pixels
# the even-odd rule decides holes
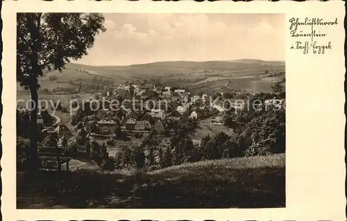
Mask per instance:
[[[162,83],[176,85],[178,87],[203,88],[207,87],[218,91],[228,80],[241,80],[241,84],[247,89],[252,88],[258,80],[266,78],[265,71],[269,73],[279,73],[285,71],[283,61],[264,60],[226,60],[226,61],[173,61],[173,62],[153,62],[148,64],[133,64],[128,66],[103,66],[96,67],[85,64],[69,63],[60,73],[51,71],[45,73],[39,79],[42,85],[48,85],[50,89],[54,87],[66,87],[67,82],[89,83],[93,78],[103,78],[114,80],[115,82],[126,82],[136,80],[151,80],[151,78],[161,78]],[[56,76],[57,80],[51,82],[50,76]],[[283,76],[284,77],[284,74]],[[46,82],[49,82],[46,83]],[[214,85],[214,82],[217,85]],[[265,82],[260,82],[264,84]],[[62,85],[63,84],[63,85]],[[268,84],[268,83],[266,83]],[[242,86],[244,87],[244,86]],[[266,86],[266,91],[271,87]]]

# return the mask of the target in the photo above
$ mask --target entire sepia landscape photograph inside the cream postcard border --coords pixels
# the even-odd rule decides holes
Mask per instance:
[[[17,209],[285,208],[285,22],[18,12]]]

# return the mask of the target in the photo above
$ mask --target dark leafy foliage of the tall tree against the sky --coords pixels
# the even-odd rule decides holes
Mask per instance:
[[[62,71],[70,59],[87,55],[104,20],[93,13],[17,13],[17,81],[38,87],[43,70]]]

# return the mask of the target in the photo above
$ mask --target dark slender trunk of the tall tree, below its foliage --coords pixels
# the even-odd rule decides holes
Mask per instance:
[[[37,171],[38,170],[38,159],[37,159],[37,105],[38,105],[38,95],[37,95],[37,86],[33,85],[30,88],[31,92],[31,100],[33,102],[30,114],[30,123],[31,123],[31,136],[30,136],[30,148],[29,148],[29,165],[30,170]]]

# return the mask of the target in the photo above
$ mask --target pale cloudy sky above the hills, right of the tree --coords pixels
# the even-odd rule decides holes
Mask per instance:
[[[105,33],[79,64],[285,60],[284,14],[104,14]]]

